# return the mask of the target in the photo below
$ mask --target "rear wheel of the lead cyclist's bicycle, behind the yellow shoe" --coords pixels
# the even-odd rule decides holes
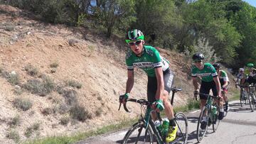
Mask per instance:
[[[188,140],[188,119],[184,113],[177,113],[175,116],[175,122],[178,126],[176,139],[172,143],[187,143]],[[169,143],[170,144],[170,143]]]

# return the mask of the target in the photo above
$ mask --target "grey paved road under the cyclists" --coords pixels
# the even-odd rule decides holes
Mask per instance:
[[[199,111],[186,114],[188,118],[188,143],[197,143],[196,126]],[[125,131],[118,131],[108,135],[100,135],[95,138],[82,140],[76,144],[112,144],[121,143]],[[253,144],[256,143],[256,111],[251,112],[249,106],[240,106],[240,101],[230,103],[228,115],[220,122],[218,131],[213,133],[211,127],[201,143],[232,143],[232,144]]]

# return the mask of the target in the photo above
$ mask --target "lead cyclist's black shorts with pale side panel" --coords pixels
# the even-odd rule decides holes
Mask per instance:
[[[171,86],[174,84],[174,72],[171,70],[164,71],[164,89],[170,94]],[[156,101],[157,79],[156,77],[148,77],[147,99],[149,102]]]

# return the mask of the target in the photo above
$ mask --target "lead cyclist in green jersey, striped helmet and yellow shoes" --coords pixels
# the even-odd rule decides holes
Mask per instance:
[[[126,55],[127,84],[126,92],[119,97],[120,102],[125,103],[134,85],[134,67],[139,67],[148,76],[147,99],[154,104],[156,111],[165,112],[169,118],[169,133],[166,135],[166,142],[176,138],[178,127],[174,121],[174,110],[168,101],[171,85],[174,80],[174,73],[170,70],[169,62],[161,57],[159,51],[149,45],[144,45],[144,35],[137,29],[128,31],[126,43],[130,50]],[[156,120],[156,113],[152,113]]]

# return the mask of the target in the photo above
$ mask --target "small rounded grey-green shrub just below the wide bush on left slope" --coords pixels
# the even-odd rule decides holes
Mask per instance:
[[[22,109],[23,111],[27,111],[28,109],[31,109],[32,102],[29,99],[16,98],[14,99],[14,106],[17,109]]]

